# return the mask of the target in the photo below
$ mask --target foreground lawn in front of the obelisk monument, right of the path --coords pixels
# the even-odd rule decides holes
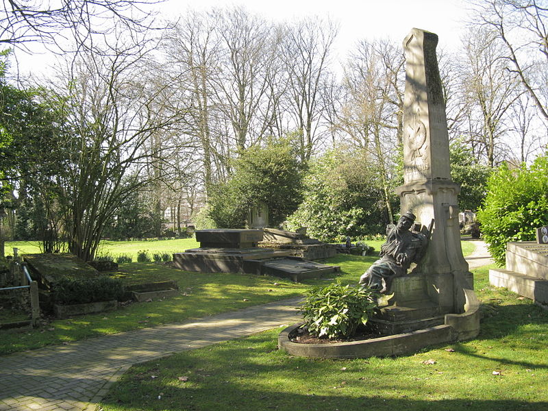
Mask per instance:
[[[274,329],[133,366],[101,406],[105,411],[548,410],[548,312],[489,286],[488,268],[474,271],[477,295],[489,308],[475,340],[397,358],[321,360],[277,351],[280,329]],[[423,364],[426,360],[435,364]]]

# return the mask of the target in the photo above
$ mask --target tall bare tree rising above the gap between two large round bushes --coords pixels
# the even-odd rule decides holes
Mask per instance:
[[[288,71],[290,113],[299,131],[301,161],[308,162],[321,136],[321,87],[329,71],[329,53],[338,34],[331,21],[308,18],[288,27],[282,58]]]

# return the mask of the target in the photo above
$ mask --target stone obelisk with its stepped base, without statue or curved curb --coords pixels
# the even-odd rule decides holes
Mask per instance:
[[[403,186],[397,188],[401,213],[434,225],[421,259],[408,275],[393,283],[390,306],[380,325],[392,332],[447,323],[447,314],[462,314],[473,293],[473,277],[460,247],[457,195],[451,180],[445,101],[436,60],[438,36],[412,29],[403,41],[406,90],[403,103]],[[423,227],[424,229],[424,227]],[[420,231],[420,228],[419,228]],[[473,317],[466,337],[479,331]],[[466,338],[465,337],[465,338]]]

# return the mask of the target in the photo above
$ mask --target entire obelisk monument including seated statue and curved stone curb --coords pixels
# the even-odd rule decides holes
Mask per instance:
[[[420,29],[412,29],[403,41],[404,184],[397,189],[401,219],[388,233],[382,258],[360,279],[360,284],[375,288],[382,282],[379,278],[384,279],[384,296],[379,299],[380,309],[371,323],[390,335],[349,343],[305,345],[292,341],[298,327],[293,325],[279,334],[278,346],[294,356],[397,356],[479,334],[479,301],[460,248],[459,186],[451,181],[449,169],[449,137],[436,61],[437,44],[436,34]],[[413,258],[411,252],[416,247],[412,243],[421,239],[419,232],[430,239],[423,258]],[[420,248],[422,253],[423,247]],[[409,260],[418,262],[411,273],[407,273]],[[390,277],[389,271],[395,275]]]

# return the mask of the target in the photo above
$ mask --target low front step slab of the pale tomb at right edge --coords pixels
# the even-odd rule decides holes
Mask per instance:
[[[548,305],[548,280],[507,269],[494,269],[489,270],[489,282],[493,286],[508,288],[523,297],[530,298],[535,303]]]

